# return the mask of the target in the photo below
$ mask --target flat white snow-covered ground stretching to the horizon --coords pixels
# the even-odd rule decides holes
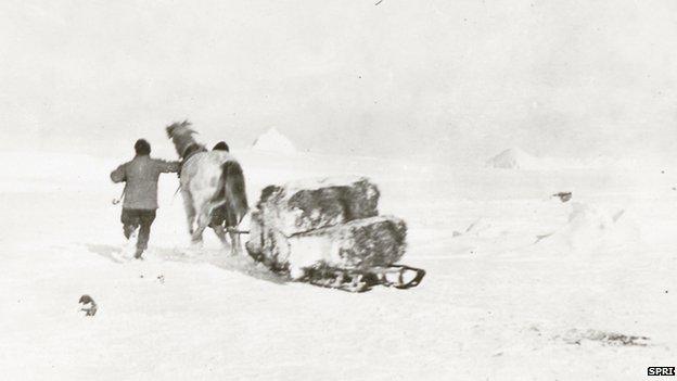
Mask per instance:
[[[408,221],[403,263],[426,278],[365,294],[282,283],[229,257],[210,232],[189,255],[173,175],[161,181],[148,259],[119,262],[111,200],[120,188],[107,179],[116,161],[7,153],[3,378],[640,380],[649,366],[677,365],[674,168],[235,154],[252,203],[292,178],[372,177],[381,213]],[[559,191],[573,200],[550,198]],[[86,293],[99,304],[93,318],[78,313]]]

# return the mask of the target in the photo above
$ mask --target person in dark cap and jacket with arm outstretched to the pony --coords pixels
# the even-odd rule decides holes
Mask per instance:
[[[163,173],[177,173],[179,162],[167,162],[151,157],[151,144],[144,139],[135,143],[135,157],[111,173],[113,182],[125,182],[125,201],[120,221],[125,238],[139,228],[135,258],[148,247],[151,225],[157,209],[157,178]]]

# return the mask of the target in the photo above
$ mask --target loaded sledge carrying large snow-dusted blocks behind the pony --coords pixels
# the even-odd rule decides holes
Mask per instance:
[[[408,289],[425,271],[396,264],[407,226],[380,216],[369,179],[315,179],[261,191],[252,213],[248,254],[291,280],[350,292],[374,285]]]

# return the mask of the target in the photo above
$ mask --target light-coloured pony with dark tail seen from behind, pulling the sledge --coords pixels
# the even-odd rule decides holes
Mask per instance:
[[[228,231],[232,254],[241,253],[235,228],[248,205],[240,163],[228,151],[207,151],[193,138],[197,132],[188,120],[174,123],[166,130],[181,158],[179,182],[191,241],[202,242],[202,233],[210,226],[223,244]],[[213,223],[215,211],[222,215],[217,223]]]

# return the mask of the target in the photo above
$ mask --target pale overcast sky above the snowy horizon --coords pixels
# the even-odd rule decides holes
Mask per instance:
[[[4,0],[1,145],[173,153],[189,118],[362,155],[675,149],[677,1],[375,2]]]

